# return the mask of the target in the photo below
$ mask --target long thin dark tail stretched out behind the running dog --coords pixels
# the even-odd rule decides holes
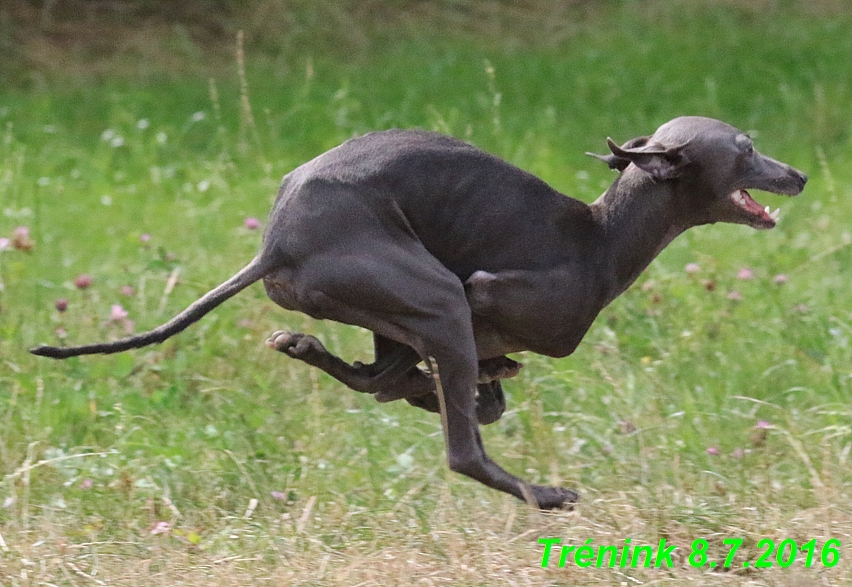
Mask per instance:
[[[154,330],[123,338],[115,342],[89,344],[76,347],[53,347],[39,346],[30,349],[34,355],[42,357],[50,357],[52,359],[67,359],[68,357],[76,357],[78,355],[94,355],[94,354],[109,354],[120,353],[129,349],[138,349],[149,344],[163,342],[184,330],[190,324],[200,320],[205,314],[213,308],[227,300],[228,298],[241,292],[252,283],[262,279],[269,273],[274,266],[269,262],[264,262],[260,256],[255,257],[251,262],[231,277],[222,285],[212,289],[204,294],[200,299],[193,302],[186,310]]]

